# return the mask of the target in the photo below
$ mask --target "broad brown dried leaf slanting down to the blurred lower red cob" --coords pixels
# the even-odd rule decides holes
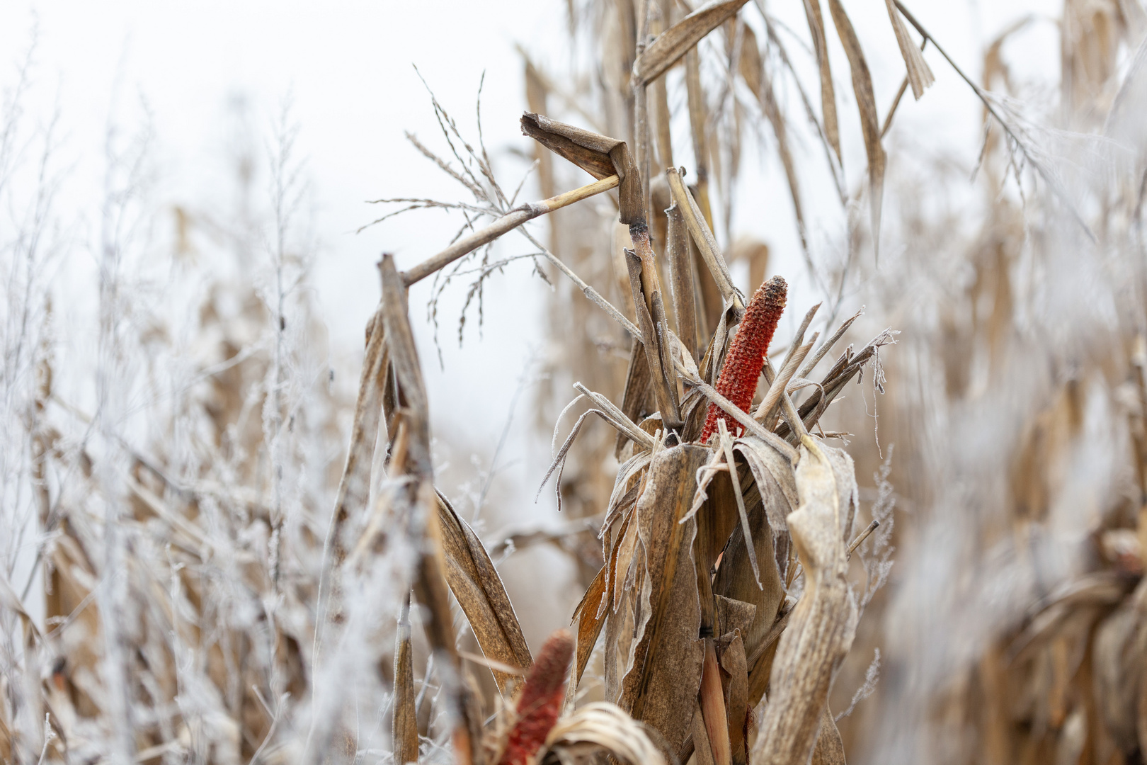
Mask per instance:
[[[438,522],[446,557],[446,581],[462,607],[482,653],[510,666],[530,666],[533,658],[501,577],[482,540],[458,516],[442,492],[438,492]],[[502,693],[513,692],[516,677],[498,670],[491,672]]]

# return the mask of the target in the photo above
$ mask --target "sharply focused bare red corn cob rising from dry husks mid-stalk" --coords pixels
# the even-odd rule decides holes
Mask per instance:
[[[717,378],[717,392],[748,411],[752,404],[752,395],[757,390],[757,377],[764,364],[768,343],[777,331],[777,322],[785,311],[785,298],[788,296],[788,284],[780,276],[773,276],[754,292],[749,307],[736,328],[733,343],[725,356],[725,366]],[[702,444],[717,431],[717,420],[728,424],[729,432],[740,435],[744,428],[716,404],[709,405],[705,427],[701,431]]]

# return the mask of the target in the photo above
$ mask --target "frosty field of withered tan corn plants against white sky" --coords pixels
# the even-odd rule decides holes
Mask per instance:
[[[305,115],[194,211],[109,133],[77,258],[6,73],[0,762],[1142,763],[1147,9],[1063,0],[962,61],[879,5],[569,0],[522,114],[423,80],[440,133],[395,150],[457,196],[365,208],[435,223],[345,274],[380,296],[353,384]],[[902,127],[969,94],[975,153]],[[454,487],[427,370],[471,384],[442,344],[514,272],[545,342],[481,372],[548,469],[491,491],[512,419]],[[564,609],[555,561],[579,600],[531,642],[510,593]]]

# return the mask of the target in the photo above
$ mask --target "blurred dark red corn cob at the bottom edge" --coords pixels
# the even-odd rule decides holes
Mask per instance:
[[[562,711],[565,672],[572,656],[574,638],[569,632],[559,630],[549,635],[525,678],[517,700],[517,721],[506,739],[499,765],[528,765],[546,742]]]

